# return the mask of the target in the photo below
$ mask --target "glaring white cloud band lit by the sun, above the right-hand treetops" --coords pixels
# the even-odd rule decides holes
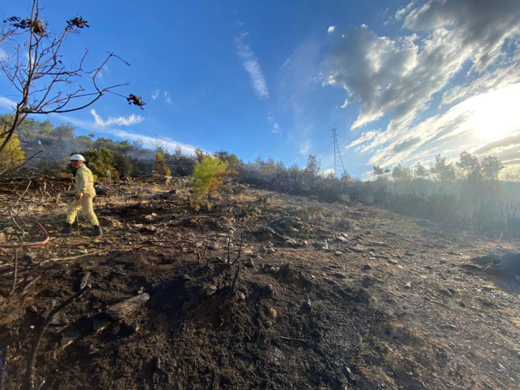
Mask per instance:
[[[473,96],[414,126],[376,133],[360,151],[374,151],[368,164],[381,167],[436,153],[456,158],[463,150],[506,158],[519,153],[520,112],[514,109],[517,101],[520,83]],[[352,146],[366,142],[369,133],[352,142]]]

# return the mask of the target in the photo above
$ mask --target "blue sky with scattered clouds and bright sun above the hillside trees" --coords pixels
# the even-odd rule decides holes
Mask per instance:
[[[153,5],[152,5],[153,4]],[[65,63],[107,52],[102,85],[129,82],[144,111],[104,96],[70,121],[79,134],[164,139],[185,153],[227,150],[333,168],[338,128],[345,168],[428,164],[441,153],[498,155],[520,167],[520,2],[481,1],[42,1],[68,38]],[[1,16],[25,16],[4,1]],[[12,49],[0,44],[0,59]],[[0,76],[0,108],[17,101]]]

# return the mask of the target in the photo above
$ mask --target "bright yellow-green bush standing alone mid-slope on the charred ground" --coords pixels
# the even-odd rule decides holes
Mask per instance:
[[[223,185],[224,178],[229,174],[227,162],[211,155],[202,158],[193,168],[191,181],[193,183],[193,196],[191,205],[195,210],[200,209],[200,204],[207,196],[207,207],[211,207],[211,194],[218,191]]]

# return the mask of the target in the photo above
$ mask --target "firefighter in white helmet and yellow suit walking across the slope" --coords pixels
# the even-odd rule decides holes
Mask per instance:
[[[85,158],[83,155],[75,154],[72,155],[71,165],[76,171],[76,199],[69,205],[67,209],[67,221],[62,229],[64,235],[69,235],[72,232],[72,223],[76,219],[76,214],[81,209],[90,223],[92,223],[92,230],[87,232],[87,235],[98,236],[101,235],[101,226],[99,226],[98,218],[94,214],[94,207],[92,200],[96,196],[96,190],[94,189],[94,178],[92,177],[92,171],[85,165]]]

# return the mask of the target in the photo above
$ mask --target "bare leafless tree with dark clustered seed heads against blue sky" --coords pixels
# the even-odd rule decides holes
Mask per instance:
[[[88,28],[88,22],[76,15],[67,20],[62,30],[53,30],[44,17],[39,0],[31,0],[31,15],[22,19],[13,16],[3,21],[0,47],[7,54],[0,58],[0,70],[15,90],[14,114],[0,124],[0,152],[7,146],[20,124],[35,114],[64,113],[83,110],[104,94],[122,96],[130,105],[143,108],[145,103],[139,96],[123,96],[114,92],[128,83],[108,87],[98,85],[98,76],[110,60],[121,60],[114,53],[107,53],[98,67],[87,69],[85,58],[88,50],[79,59],[78,65],[64,65],[62,55],[69,35],[78,34]]]

